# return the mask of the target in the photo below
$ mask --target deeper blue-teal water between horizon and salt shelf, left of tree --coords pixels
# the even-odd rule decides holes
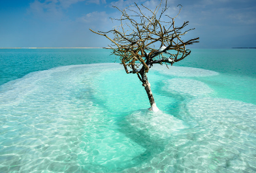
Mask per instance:
[[[109,53],[104,49],[0,49],[0,85],[59,66],[114,63]]]

